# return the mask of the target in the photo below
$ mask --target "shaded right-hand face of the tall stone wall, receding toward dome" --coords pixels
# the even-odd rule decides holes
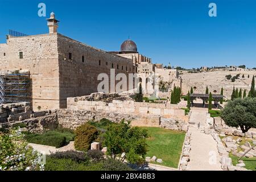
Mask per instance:
[[[133,61],[125,57],[101,51],[60,34],[57,37],[57,44],[60,108],[67,106],[67,97],[98,92],[97,86],[101,80],[97,80],[97,77],[100,73],[106,73],[110,83],[110,69],[115,69],[115,74],[124,73],[127,77],[129,73],[135,72]],[[69,53],[72,54],[72,59],[69,59]]]

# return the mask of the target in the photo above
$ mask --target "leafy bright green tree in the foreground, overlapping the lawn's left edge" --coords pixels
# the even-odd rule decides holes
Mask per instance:
[[[147,152],[148,132],[139,127],[131,127],[130,123],[122,120],[119,125],[110,125],[105,133],[107,154],[113,159],[119,158],[122,162],[127,160],[133,164],[142,164]]]

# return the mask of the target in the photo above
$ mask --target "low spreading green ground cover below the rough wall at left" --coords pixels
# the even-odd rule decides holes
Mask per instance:
[[[28,143],[43,144],[52,147],[63,147],[74,140],[75,134],[68,131],[47,131],[42,134],[24,133]]]

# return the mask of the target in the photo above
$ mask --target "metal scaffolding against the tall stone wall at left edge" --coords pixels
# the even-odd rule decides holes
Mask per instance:
[[[0,104],[31,101],[30,73],[0,71]]]

